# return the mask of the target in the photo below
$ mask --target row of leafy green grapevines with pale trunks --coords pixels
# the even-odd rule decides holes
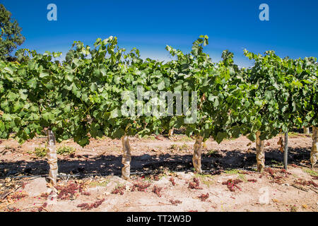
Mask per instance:
[[[48,136],[49,178],[57,180],[55,142],[70,138],[81,146],[90,138],[122,138],[122,177],[129,178],[129,136],[167,133],[184,128],[195,136],[193,164],[201,172],[201,145],[208,138],[247,136],[257,143],[257,168],[264,169],[264,140],[295,128],[313,127],[312,166],[316,163],[318,97],[317,59],[290,59],[268,51],[264,55],[245,50],[254,66],[241,68],[233,54],[224,51],[213,62],[204,53],[208,37],[201,35],[188,54],[167,46],[167,62],[141,59],[138,49],[127,52],[117,37],[96,40],[94,47],[74,42],[64,61],[61,53],[23,49],[18,61],[0,62],[0,138],[27,141]],[[151,93],[190,93],[183,114],[122,114],[122,106],[143,105],[123,93],[151,103]],[[195,93],[195,95],[194,95]],[[196,101],[194,101],[196,100]],[[174,103],[176,101],[174,100]],[[195,121],[185,123],[189,111]],[[153,109],[154,110],[154,109]],[[134,110],[133,110],[134,111]]]

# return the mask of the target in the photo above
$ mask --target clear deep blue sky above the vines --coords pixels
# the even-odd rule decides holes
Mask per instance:
[[[0,0],[23,28],[20,47],[60,51],[74,40],[93,45],[117,36],[119,46],[137,47],[142,57],[169,59],[165,45],[191,50],[199,35],[208,35],[206,52],[220,60],[224,49],[241,66],[251,63],[243,49],[281,56],[318,57],[317,0]],[[57,5],[57,21],[47,20],[47,5]],[[259,20],[259,5],[269,5],[269,21]]]

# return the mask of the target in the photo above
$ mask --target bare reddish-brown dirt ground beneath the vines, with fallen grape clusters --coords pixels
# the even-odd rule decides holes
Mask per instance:
[[[288,171],[283,169],[279,137],[265,141],[266,170],[256,169],[255,144],[240,137],[218,144],[208,140],[202,169],[192,167],[194,140],[131,138],[131,179],[120,177],[122,142],[92,139],[73,155],[59,155],[59,177],[52,198],[45,180],[45,157],[35,148],[46,138],[19,145],[0,141],[0,211],[297,211],[317,212],[317,167],[310,169],[309,135],[288,138]]]

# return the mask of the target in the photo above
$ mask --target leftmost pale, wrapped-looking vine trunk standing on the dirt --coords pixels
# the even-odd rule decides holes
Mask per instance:
[[[47,130],[47,163],[49,164],[49,181],[52,185],[57,184],[57,150],[55,148],[55,136],[52,130]]]

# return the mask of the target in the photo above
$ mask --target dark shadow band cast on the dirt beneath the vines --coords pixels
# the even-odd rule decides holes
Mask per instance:
[[[282,165],[283,153],[277,149],[267,149],[265,153],[266,166]],[[59,160],[59,173],[64,174],[100,174],[120,175],[122,157],[114,155],[100,155],[98,157],[86,157],[86,159]],[[310,165],[310,148],[290,148],[288,150],[288,164]],[[245,153],[242,150],[218,150],[207,156],[202,155],[202,169],[206,172],[219,172],[223,169],[252,169],[256,167],[255,150]],[[192,155],[139,155],[132,156],[131,172],[151,174],[158,169],[166,168],[170,171],[192,171]],[[0,177],[45,175],[49,165],[46,160],[10,161],[0,163]]]

